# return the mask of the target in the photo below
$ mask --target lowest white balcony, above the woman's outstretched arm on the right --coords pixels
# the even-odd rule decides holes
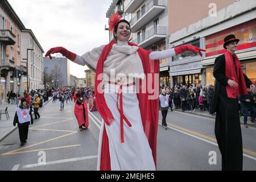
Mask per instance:
[[[142,48],[146,48],[159,40],[166,38],[166,35],[166,27],[153,27],[146,31],[145,34],[142,34],[140,38],[135,39],[133,43],[141,46]]]

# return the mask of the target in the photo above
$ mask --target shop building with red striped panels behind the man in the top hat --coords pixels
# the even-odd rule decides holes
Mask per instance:
[[[205,11],[207,13],[205,18],[194,23],[189,22],[191,24],[180,30],[171,31],[170,47],[192,44],[207,50],[203,57],[192,52],[172,57],[170,64],[171,86],[214,84],[214,60],[225,52],[224,38],[229,34],[234,34],[241,40],[236,53],[241,60],[243,71],[251,81],[255,82],[256,2],[253,0],[215,1],[215,5],[210,6],[212,2],[214,1],[208,2],[209,6],[205,5],[209,11],[208,13]],[[216,9],[216,12],[214,13],[212,9]]]

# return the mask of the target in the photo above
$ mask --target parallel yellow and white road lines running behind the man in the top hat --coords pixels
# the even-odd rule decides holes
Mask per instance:
[[[162,122],[162,121],[161,121]],[[160,121],[159,121],[159,125],[161,125]],[[200,140],[203,140],[204,142],[208,142],[210,144],[213,144],[215,146],[218,146],[218,144],[216,143],[217,140],[215,138],[212,138],[212,137],[208,137],[206,135],[203,135],[203,134],[200,134],[200,133],[197,133],[195,131],[191,131],[191,130],[188,130],[188,129],[184,129],[183,127],[179,127],[179,126],[176,126],[176,125],[172,125],[170,123],[167,123],[168,125],[168,128],[172,129],[172,130],[175,130],[175,131],[179,131],[180,133],[183,133],[185,135],[189,135],[193,138],[197,138],[197,139],[200,139]],[[254,151],[251,151],[251,150],[248,150],[246,148],[243,148],[243,152],[247,153],[247,154],[250,154],[250,155],[254,155],[256,156],[256,152]],[[243,153],[243,156],[246,156],[247,158],[250,158],[250,159],[254,159],[256,160],[256,158],[254,158],[253,156],[250,156],[250,155],[246,155]]]

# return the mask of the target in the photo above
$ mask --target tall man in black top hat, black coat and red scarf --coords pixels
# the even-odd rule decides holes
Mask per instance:
[[[243,151],[238,96],[247,94],[253,83],[242,72],[236,54],[238,42],[234,35],[226,36],[224,55],[214,63],[216,78],[210,114],[216,112],[215,135],[222,155],[222,171],[242,170]]]

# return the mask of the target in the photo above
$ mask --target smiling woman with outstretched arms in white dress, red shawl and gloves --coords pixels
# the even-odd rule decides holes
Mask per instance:
[[[184,51],[202,56],[204,50],[183,45],[166,51],[146,51],[128,42],[130,24],[118,13],[110,17],[109,30],[115,40],[82,56],[55,47],[49,49],[46,57],[59,52],[96,72],[96,107],[103,121],[97,169],[156,170],[159,59]]]

